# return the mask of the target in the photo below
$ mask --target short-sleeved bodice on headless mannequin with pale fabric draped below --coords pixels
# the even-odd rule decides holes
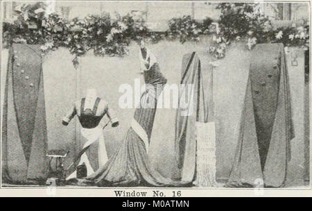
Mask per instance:
[[[94,93],[94,95],[96,94]],[[86,141],[82,151],[78,153],[76,160],[69,167],[69,169],[67,169],[68,180],[76,177],[76,168],[78,165],[83,164],[84,162],[87,166],[87,175],[94,173],[94,169],[90,164],[90,162],[92,163],[93,160],[89,160],[87,155],[89,146],[94,142],[98,141],[98,160],[96,162],[98,162],[99,166],[107,162],[107,152],[105,148],[105,140],[103,137],[104,123],[101,121],[104,115],[107,115],[107,117],[110,119],[112,122],[112,127],[119,125],[119,120],[115,116],[114,110],[109,107],[108,103],[96,96],[92,98],[94,98],[93,105],[92,103],[85,105],[85,103],[91,99],[90,94],[89,96],[87,94],[86,98],[74,102],[71,106],[71,109],[67,112],[67,115],[65,115],[65,117],[62,119],[62,124],[67,126],[69,121],[71,121],[71,119],[77,115],[82,126],[81,134],[83,137],[85,137],[84,140]]]

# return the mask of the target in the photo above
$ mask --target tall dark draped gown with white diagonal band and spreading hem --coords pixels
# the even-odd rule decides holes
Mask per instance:
[[[141,106],[135,110],[132,125],[118,151],[88,176],[83,184],[98,186],[185,186],[186,183],[165,178],[151,167],[148,160],[148,144],[153,129],[157,97],[166,84],[157,62],[144,71],[146,90],[141,94]]]

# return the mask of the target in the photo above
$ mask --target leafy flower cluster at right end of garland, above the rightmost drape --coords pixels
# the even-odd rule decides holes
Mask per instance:
[[[274,28],[271,20],[261,12],[259,3],[220,3],[217,8],[221,10],[220,31],[214,37],[214,47],[209,48],[216,59],[225,56],[227,44],[241,39],[247,40],[248,49],[268,42],[309,48],[309,24]]]

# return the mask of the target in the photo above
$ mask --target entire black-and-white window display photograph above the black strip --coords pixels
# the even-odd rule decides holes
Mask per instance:
[[[309,1],[1,1],[1,192],[311,191],[310,17]]]

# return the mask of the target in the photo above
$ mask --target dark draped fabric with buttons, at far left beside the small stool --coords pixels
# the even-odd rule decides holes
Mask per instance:
[[[46,178],[47,133],[39,45],[13,44],[3,105],[4,183],[38,183]]]

